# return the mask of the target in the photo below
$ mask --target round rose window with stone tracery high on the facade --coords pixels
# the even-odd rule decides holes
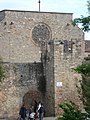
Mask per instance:
[[[50,39],[50,29],[46,24],[38,24],[32,30],[32,39],[35,43]]]

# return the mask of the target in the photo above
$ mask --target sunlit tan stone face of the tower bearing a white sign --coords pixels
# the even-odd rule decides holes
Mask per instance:
[[[78,32],[79,28],[74,29]],[[67,40],[54,41],[55,106],[57,108],[55,113],[57,115],[61,113],[58,104],[63,101],[73,101],[80,109],[83,107],[76,87],[81,76],[72,69],[81,64],[84,59],[83,34],[79,36],[78,32],[74,35],[76,31],[72,35],[68,34]],[[69,38],[71,36],[72,38]]]

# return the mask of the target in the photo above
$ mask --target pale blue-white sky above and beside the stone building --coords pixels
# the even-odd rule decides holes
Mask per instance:
[[[38,11],[39,0],[0,0],[1,10]],[[87,0],[40,0],[40,11],[73,13],[73,19],[81,15],[88,16]],[[90,40],[90,32],[85,33],[85,40]]]

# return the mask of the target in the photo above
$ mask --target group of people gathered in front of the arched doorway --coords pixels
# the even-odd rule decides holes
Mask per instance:
[[[37,103],[34,101],[33,110],[30,108],[29,110],[26,109],[25,105],[23,104],[19,111],[19,118],[20,120],[43,120],[44,117],[44,107],[41,102]]]

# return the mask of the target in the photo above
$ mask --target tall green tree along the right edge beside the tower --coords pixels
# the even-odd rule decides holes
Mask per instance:
[[[81,100],[90,118],[90,63],[81,64],[74,68],[74,70],[82,75],[82,80],[80,81],[82,90]]]

